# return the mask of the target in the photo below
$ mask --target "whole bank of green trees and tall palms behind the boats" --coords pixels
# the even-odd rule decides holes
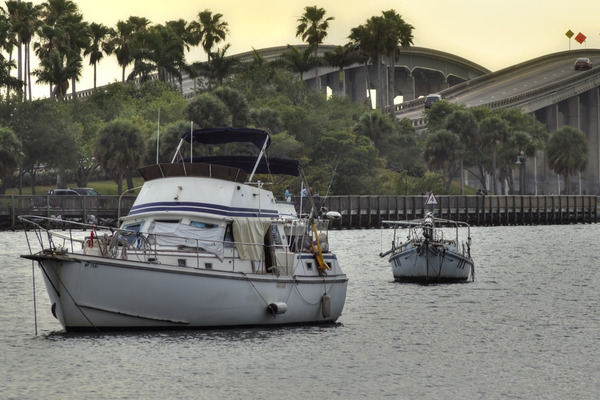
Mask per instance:
[[[344,97],[328,98],[319,83],[316,91],[306,86],[302,74],[320,65],[339,68],[343,85],[345,66],[359,62],[365,68],[376,63],[376,86],[393,88],[393,82],[384,83],[394,74],[383,57],[393,60],[402,47],[410,46],[414,29],[394,10],[367,19],[351,30],[347,44],[319,58],[318,46],[333,17],[322,8],[305,7],[296,30],[309,45],[305,51],[288,46],[274,62],[255,52],[252,61],[241,63],[226,56],[228,44],[215,50],[225,42],[228,24],[209,10],[192,22],[151,25],[145,18],[130,17],[109,28],[83,21],[69,0],[5,4],[0,14],[0,25],[6,28],[0,30],[0,85],[6,92],[0,103],[2,191],[15,185],[21,189],[26,181],[35,193],[37,178],[50,171],[59,187],[66,181],[85,186],[94,174],[103,174],[117,182],[121,193],[124,182],[132,187],[136,168],[170,161],[169,152],[190,121],[198,128],[266,129],[273,135],[271,156],[299,159],[316,190],[327,194],[462,193],[465,170],[478,177],[479,187],[501,193],[512,190],[516,157],[544,149],[551,167],[565,179],[585,167],[580,131],[549,137],[534,118],[515,109],[466,109],[437,102],[426,112],[428,129],[416,131],[410,121],[382,112],[393,104],[394,93],[377,90],[379,110],[372,110]],[[40,59],[34,71],[29,68],[32,41]],[[185,52],[196,45],[202,46],[207,61],[187,64]],[[15,48],[18,74],[13,78]],[[56,101],[69,87],[75,91],[84,56],[96,74],[105,55],[117,57],[121,83],[86,99]],[[198,78],[192,101],[181,96],[183,73]],[[32,75],[49,84],[48,99],[31,101]],[[459,189],[450,185],[457,177]],[[299,185],[281,180],[273,189],[282,194],[287,186],[299,191]]]

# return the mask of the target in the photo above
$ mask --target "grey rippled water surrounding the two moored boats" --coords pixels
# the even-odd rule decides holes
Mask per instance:
[[[393,282],[390,230],[334,231],[330,327],[66,334],[22,233],[0,233],[2,399],[600,397],[600,225],[472,228],[476,280]]]

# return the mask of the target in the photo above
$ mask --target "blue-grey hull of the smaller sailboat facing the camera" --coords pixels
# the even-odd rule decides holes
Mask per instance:
[[[406,248],[392,255],[389,261],[398,282],[466,282],[473,276],[471,259],[428,244]]]

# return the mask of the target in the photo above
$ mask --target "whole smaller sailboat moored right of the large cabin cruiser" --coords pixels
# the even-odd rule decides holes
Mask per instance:
[[[471,258],[471,228],[466,222],[434,217],[411,221],[383,221],[393,225],[392,248],[389,255],[394,280],[416,283],[467,282],[475,279],[475,264]],[[406,240],[398,237],[408,229]],[[461,241],[460,234],[466,240]]]

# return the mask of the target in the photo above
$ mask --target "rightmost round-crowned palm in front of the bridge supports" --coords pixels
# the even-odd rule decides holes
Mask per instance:
[[[569,194],[571,175],[587,166],[588,144],[585,134],[571,126],[563,126],[550,135],[546,152],[550,169],[564,177],[565,191]]]

